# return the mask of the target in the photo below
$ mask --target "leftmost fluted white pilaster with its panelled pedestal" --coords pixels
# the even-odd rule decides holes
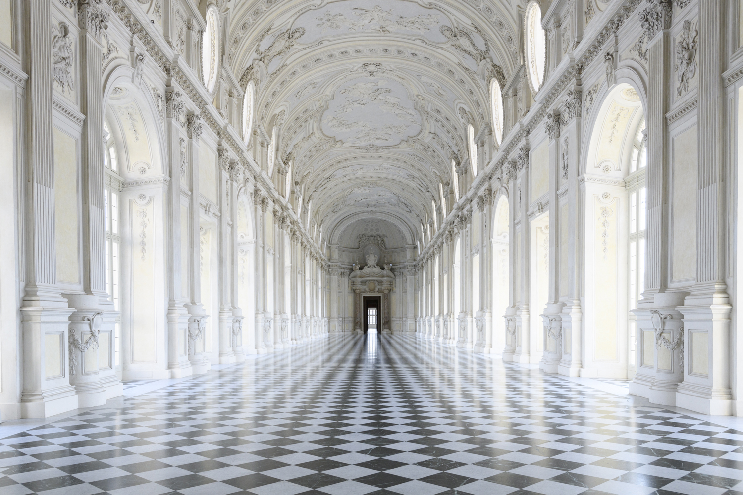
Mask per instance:
[[[21,304],[23,392],[21,416],[45,418],[75,409],[75,389],[65,371],[68,360],[68,309],[56,286],[56,246],[54,217],[53,114],[51,75],[51,2],[25,3],[29,29],[24,69],[27,80],[27,169],[25,209],[27,210],[27,283]],[[48,375],[48,359],[59,355],[59,373]],[[51,362],[51,364],[56,364]]]

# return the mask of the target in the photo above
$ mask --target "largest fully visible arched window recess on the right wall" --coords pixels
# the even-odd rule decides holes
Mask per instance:
[[[645,255],[644,111],[631,85],[597,105],[585,160],[584,366],[624,378],[635,369],[635,309]]]

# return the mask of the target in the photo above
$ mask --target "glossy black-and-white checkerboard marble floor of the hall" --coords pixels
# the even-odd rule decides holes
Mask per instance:
[[[0,494],[743,495],[743,433],[406,335],[330,336],[0,440]]]

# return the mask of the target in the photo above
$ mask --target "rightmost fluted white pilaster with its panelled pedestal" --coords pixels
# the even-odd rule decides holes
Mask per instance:
[[[679,308],[684,313],[683,341],[687,343],[681,362],[687,367],[675,403],[703,414],[727,415],[733,413],[730,357],[739,358],[730,353],[732,307],[724,282],[730,215],[726,206],[731,203],[727,203],[724,184],[726,121],[720,74],[726,38],[720,26],[727,20],[724,2],[700,2],[698,8],[697,275],[692,293]],[[704,362],[708,362],[707,369]]]

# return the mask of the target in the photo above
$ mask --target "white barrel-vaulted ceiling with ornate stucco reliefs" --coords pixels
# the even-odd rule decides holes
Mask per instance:
[[[241,0],[227,62],[257,83],[256,124],[282,123],[305,206],[324,232],[364,212],[420,237],[466,154],[461,108],[490,122],[488,88],[519,65],[508,0]]]

